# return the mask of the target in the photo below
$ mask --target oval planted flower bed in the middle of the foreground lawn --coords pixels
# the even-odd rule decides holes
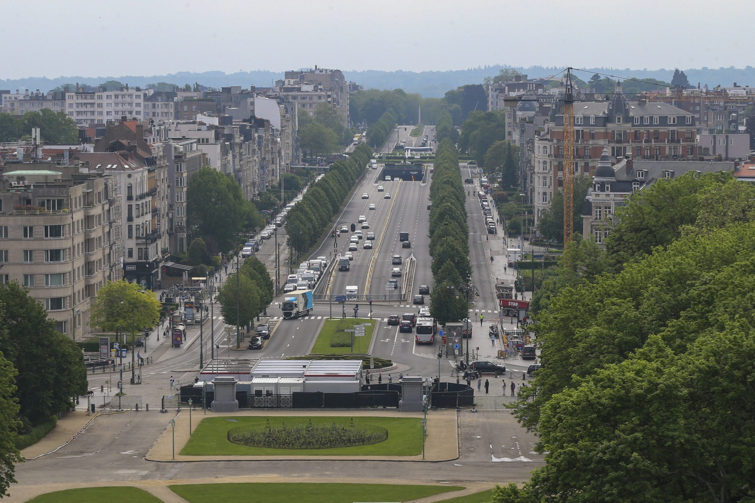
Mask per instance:
[[[388,430],[371,424],[355,426],[353,421],[288,423],[228,430],[228,441],[242,446],[270,449],[333,449],[367,446],[388,440]]]

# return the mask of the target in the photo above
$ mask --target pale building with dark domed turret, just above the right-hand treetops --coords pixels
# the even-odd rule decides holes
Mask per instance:
[[[700,176],[719,171],[734,172],[740,162],[713,162],[697,160],[646,160],[624,159],[612,165],[608,147],[603,147],[593,173],[592,188],[582,208],[582,233],[604,246],[614,224],[618,208],[626,204],[627,197],[651,184],[664,183],[689,172]]]

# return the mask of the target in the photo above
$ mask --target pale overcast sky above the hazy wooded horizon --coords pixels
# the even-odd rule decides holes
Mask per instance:
[[[0,0],[0,78],[752,64],[753,2]],[[725,5],[725,8],[713,8]],[[741,28],[736,28],[737,26]]]

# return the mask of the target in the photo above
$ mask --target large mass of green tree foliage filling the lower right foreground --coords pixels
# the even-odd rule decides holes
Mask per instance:
[[[533,299],[542,368],[516,409],[546,465],[493,501],[752,501],[753,196],[730,175],[661,180],[606,252],[567,245]]]

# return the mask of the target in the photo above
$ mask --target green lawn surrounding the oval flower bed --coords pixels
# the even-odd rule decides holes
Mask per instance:
[[[205,418],[199,422],[189,442],[181,449],[181,455],[284,455],[284,456],[313,456],[313,455],[381,455],[381,456],[411,456],[422,453],[422,427],[419,418],[383,418],[383,417],[355,417],[354,424],[374,424],[388,430],[388,440],[373,443],[368,446],[338,447],[333,449],[270,449],[267,447],[242,446],[228,441],[228,430],[239,426],[265,427],[267,419],[271,426],[283,422],[306,422],[312,419],[314,423],[322,421],[350,421],[350,417],[337,416],[234,416],[230,418]],[[355,500],[359,501],[359,500]]]

